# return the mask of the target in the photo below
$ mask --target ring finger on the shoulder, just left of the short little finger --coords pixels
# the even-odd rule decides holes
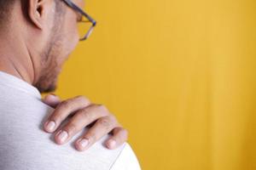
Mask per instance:
[[[102,139],[103,136],[111,132],[116,127],[116,120],[113,116],[105,116],[100,118],[93,127],[91,127],[82,138],[75,142],[77,150],[83,151],[90,148],[96,141]]]

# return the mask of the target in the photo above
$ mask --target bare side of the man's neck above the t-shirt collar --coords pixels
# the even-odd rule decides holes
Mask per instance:
[[[19,34],[0,34],[0,71],[7,72],[30,84],[35,81],[32,56]]]

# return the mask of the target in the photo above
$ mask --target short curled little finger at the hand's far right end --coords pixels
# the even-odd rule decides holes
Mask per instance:
[[[113,150],[120,145],[124,144],[128,139],[128,131],[123,127],[115,127],[113,129],[113,136],[110,137],[106,142],[108,149]]]

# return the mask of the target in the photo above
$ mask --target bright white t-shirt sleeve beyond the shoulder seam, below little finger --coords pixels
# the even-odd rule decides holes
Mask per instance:
[[[110,170],[141,170],[137,156],[131,149],[131,145],[126,143],[124,150],[114,161]]]

